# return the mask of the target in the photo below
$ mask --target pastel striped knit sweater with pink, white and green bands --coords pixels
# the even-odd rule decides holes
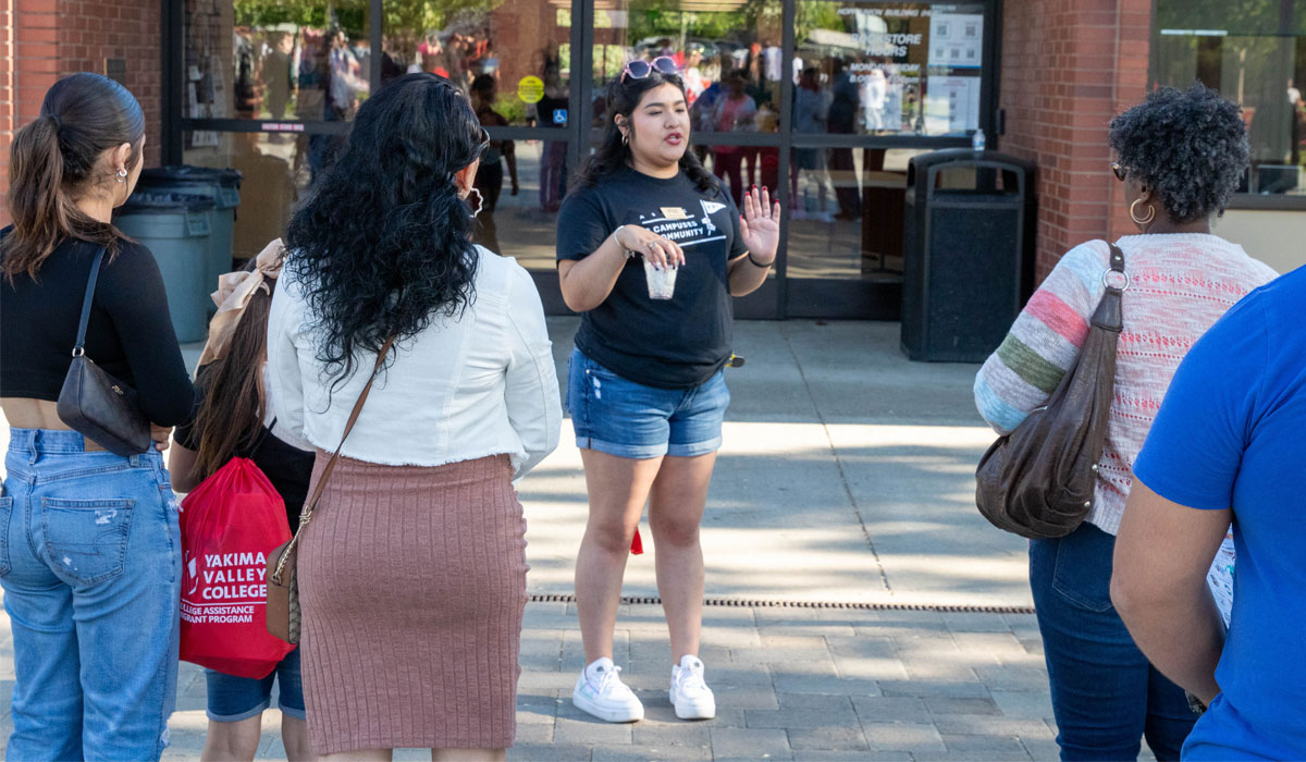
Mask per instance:
[[[1131,282],[1122,299],[1115,400],[1088,516],[1110,535],[1121,525],[1134,459],[1179,361],[1229,307],[1276,276],[1216,235],[1127,235],[1117,244]],[[1067,252],[980,369],[976,405],[999,433],[1012,431],[1045,404],[1074,362],[1102,298],[1107,259],[1105,240]]]

